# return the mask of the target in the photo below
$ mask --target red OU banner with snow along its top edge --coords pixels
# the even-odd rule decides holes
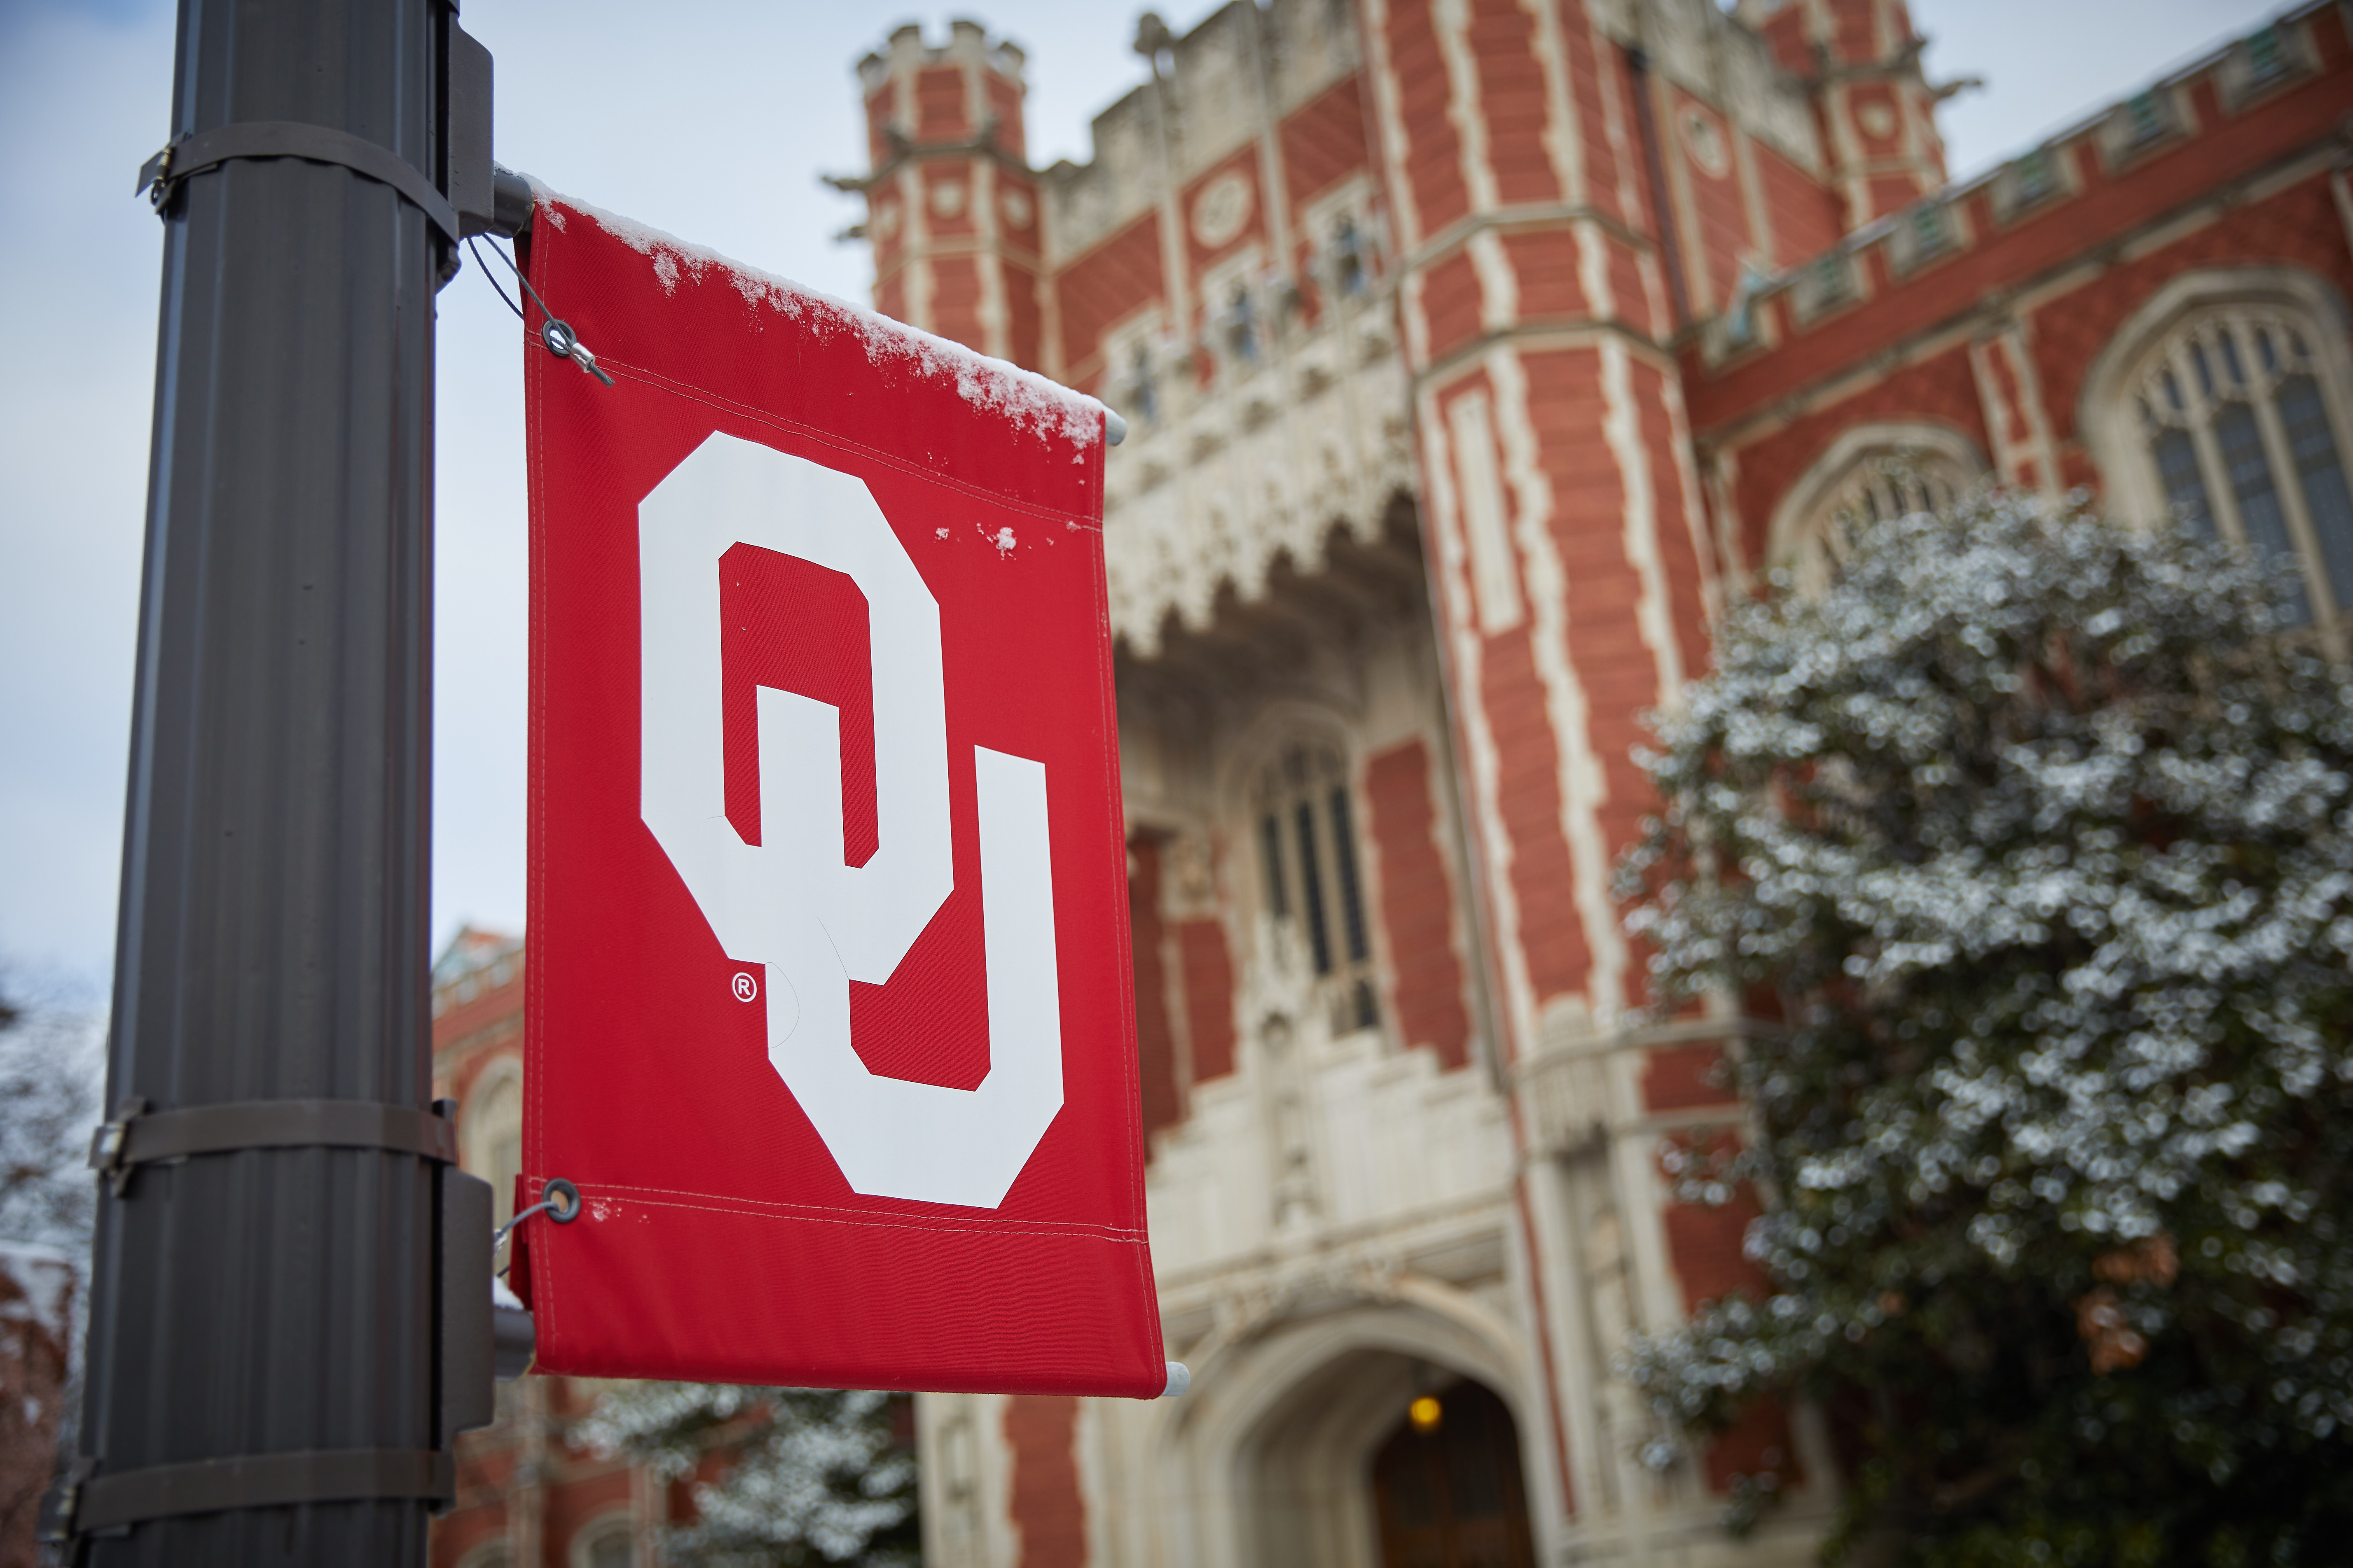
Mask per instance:
[[[539,1371],[1181,1385],[1104,407],[548,193],[525,252],[612,376],[527,350]]]

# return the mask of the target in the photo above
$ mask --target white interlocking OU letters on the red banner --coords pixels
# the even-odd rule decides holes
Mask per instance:
[[[718,562],[746,543],[866,595],[878,846],[842,858],[840,710],[758,689],[760,844],[727,820]],[[988,1077],[866,1070],[849,983],[882,985],[955,889],[939,602],[866,484],[711,435],[638,505],[640,816],[729,959],[767,966],[767,1060],[849,1187],[995,1208],[1061,1110],[1045,766],[972,748]],[[741,994],[741,992],[739,992]]]

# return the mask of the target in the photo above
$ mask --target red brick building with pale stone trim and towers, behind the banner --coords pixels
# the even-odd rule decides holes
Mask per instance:
[[[1019,49],[901,28],[842,181],[882,310],[1129,418],[1148,1197],[1195,1373],[925,1396],[927,1561],[1805,1561],[1814,1422],[1678,1453],[1612,1371],[1744,1279],[1741,1215],[1657,1166],[1739,1128],[1741,1020],[1635,1013],[1640,715],[1835,515],[1981,480],[2287,552],[2344,651],[2348,12],[1958,186],[1899,0],[1238,0],[1139,52],[1094,160],[1035,169]],[[1791,1505],[1727,1540],[1767,1469]]]

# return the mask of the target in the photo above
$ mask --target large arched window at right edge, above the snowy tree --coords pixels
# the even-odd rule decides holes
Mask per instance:
[[[2148,348],[2127,395],[2167,508],[2205,536],[2304,569],[2299,621],[2353,611],[2341,390],[2301,310],[2195,310]]]

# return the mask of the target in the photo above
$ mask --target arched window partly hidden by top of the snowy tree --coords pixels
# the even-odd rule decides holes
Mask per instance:
[[[1984,458],[1944,425],[1859,425],[1805,470],[1767,534],[1767,567],[1788,567],[1819,590],[1847,557],[1857,524],[1951,505],[1986,473]]]

